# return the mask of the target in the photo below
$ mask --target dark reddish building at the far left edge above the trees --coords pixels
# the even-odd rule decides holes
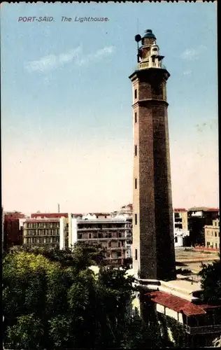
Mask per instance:
[[[22,245],[22,222],[25,215],[20,211],[3,212],[3,249]]]

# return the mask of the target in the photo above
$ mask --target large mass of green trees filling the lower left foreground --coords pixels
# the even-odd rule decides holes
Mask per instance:
[[[134,278],[126,268],[101,266],[95,274],[89,267],[102,257],[96,249],[23,247],[6,255],[3,340],[9,349],[154,347],[153,323],[141,328],[141,319],[129,313]]]

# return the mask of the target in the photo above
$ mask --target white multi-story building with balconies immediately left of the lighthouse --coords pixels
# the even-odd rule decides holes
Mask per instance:
[[[105,248],[106,262],[110,265],[122,265],[124,259],[131,258],[131,221],[120,216],[115,218],[97,218],[87,214],[83,218],[71,216],[69,221],[69,247],[77,241],[99,244]],[[64,235],[60,248],[64,248]]]

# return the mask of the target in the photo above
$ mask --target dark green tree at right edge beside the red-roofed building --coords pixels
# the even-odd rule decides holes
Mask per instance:
[[[221,304],[221,264],[220,260],[213,264],[202,264],[199,272],[204,302]]]

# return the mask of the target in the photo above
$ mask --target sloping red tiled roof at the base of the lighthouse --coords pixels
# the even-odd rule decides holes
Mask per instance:
[[[192,302],[182,299],[181,297],[176,297],[175,295],[160,292],[159,290],[147,293],[146,295],[150,295],[153,302],[168,307],[176,312],[183,311],[187,316],[206,314],[206,311],[201,305],[193,304]]]

